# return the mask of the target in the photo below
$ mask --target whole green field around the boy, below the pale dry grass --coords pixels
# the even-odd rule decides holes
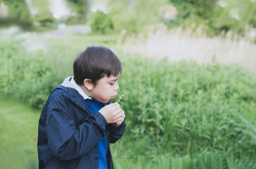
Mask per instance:
[[[117,36],[44,39],[45,52],[0,41],[0,168],[37,168],[38,118],[52,89],[88,45],[113,49],[125,135],[116,169],[255,169],[256,76],[237,65],[154,61],[114,48]],[[116,100],[113,100],[116,101]]]

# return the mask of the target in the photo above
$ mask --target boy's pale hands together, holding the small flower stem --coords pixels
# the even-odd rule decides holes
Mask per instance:
[[[108,123],[116,123],[122,116],[122,109],[118,103],[112,103],[104,106],[99,112],[105,117]]]

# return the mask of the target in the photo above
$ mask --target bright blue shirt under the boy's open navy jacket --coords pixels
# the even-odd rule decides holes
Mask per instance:
[[[85,100],[86,105],[89,107],[91,113],[98,112],[103,106],[97,100]],[[107,155],[108,151],[108,143],[107,143],[107,135],[104,134],[104,138],[98,142],[98,152],[99,152],[99,169],[108,169],[107,165]]]

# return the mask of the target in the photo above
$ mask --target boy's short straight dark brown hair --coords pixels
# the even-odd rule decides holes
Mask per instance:
[[[118,76],[122,63],[111,49],[104,46],[88,46],[77,54],[73,64],[74,80],[83,85],[84,79],[92,80],[93,85],[102,77]]]

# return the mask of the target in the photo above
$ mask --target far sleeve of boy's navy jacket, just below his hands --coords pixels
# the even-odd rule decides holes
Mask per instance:
[[[109,142],[116,143],[116,141],[119,140],[124,134],[125,127],[126,127],[125,121],[123,121],[122,124],[120,124],[120,126],[118,127],[114,127],[112,126],[112,124],[108,124],[107,129],[109,131]]]

